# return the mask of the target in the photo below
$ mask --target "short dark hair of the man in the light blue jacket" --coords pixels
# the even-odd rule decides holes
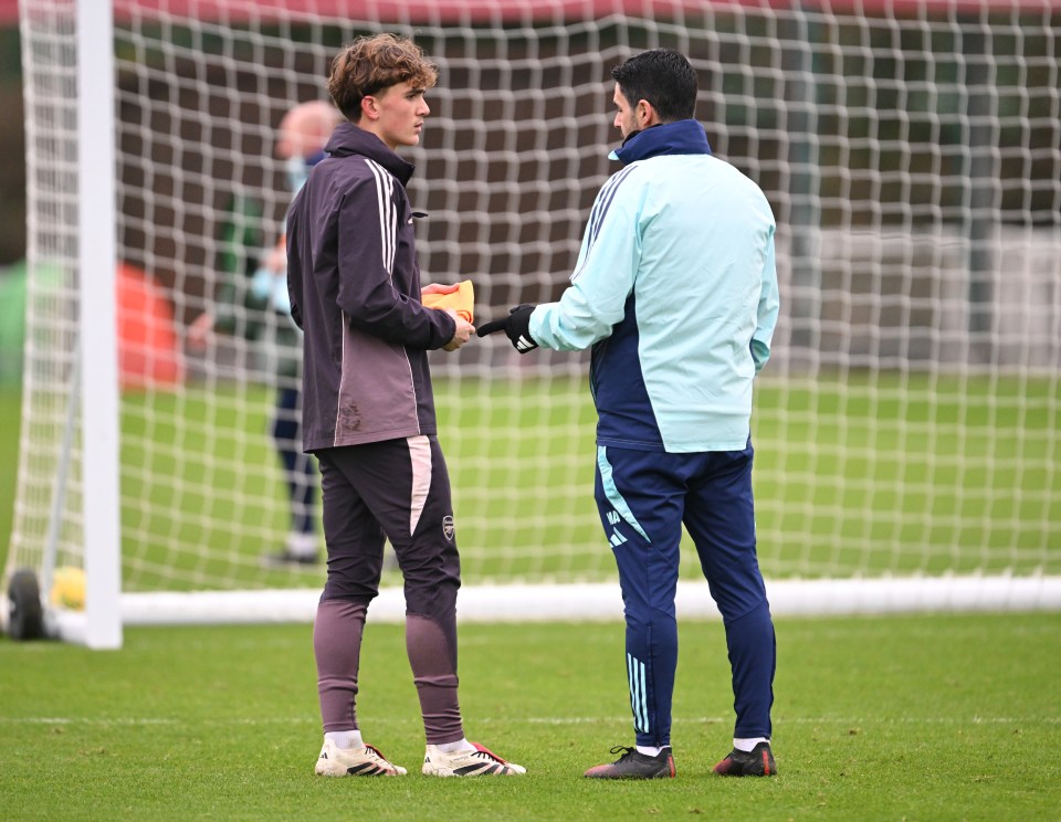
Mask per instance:
[[[664,123],[692,119],[696,113],[696,72],[681,52],[652,49],[611,70],[630,105],[647,101]]]

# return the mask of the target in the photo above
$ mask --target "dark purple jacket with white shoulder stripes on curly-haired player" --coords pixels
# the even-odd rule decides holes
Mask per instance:
[[[305,333],[306,451],[437,434],[428,350],[455,323],[420,303],[413,166],[336,128],[287,214],[287,289]]]

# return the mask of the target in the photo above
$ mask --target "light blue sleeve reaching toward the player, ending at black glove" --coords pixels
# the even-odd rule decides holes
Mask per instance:
[[[623,318],[641,255],[638,187],[620,183],[633,167],[605,183],[590,212],[571,284],[559,302],[530,315],[530,336],[544,348],[576,351],[608,337]]]

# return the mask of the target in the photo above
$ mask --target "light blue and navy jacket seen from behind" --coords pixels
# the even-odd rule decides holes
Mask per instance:
[[[739,451],[777,324],[770,205],[711,156],[696,120],[649,128],[611,157],[624,167],[597,196],[570,286],[534,309],[530,336],[592,346],[598,445]]]

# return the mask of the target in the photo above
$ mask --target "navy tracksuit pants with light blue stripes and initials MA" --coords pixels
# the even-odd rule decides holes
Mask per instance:
[[[770,736],[776,650],[755,550],[752,462],[750,441],[743,451],[695,454],[597,449],[597,508],[619,566],[638,745],[671,741],[683,524],[726,630],[734,736]]]

